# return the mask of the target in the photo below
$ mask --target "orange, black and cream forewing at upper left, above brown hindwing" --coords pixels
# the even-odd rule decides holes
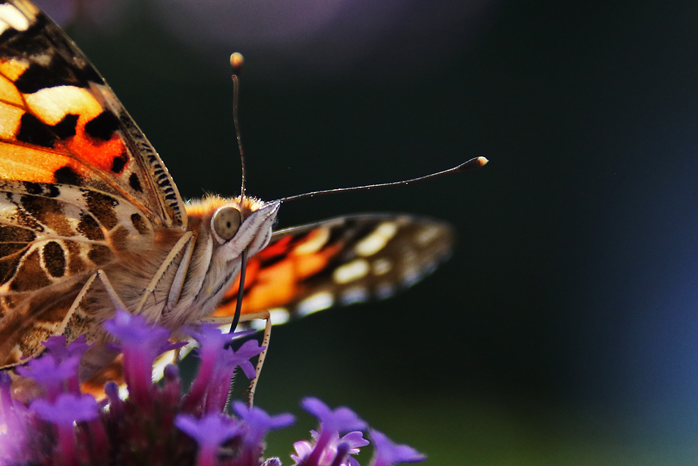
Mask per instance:
[[[186,226],[154,148],[75,43],[24,0],[0,3],[0,179],[95,189]]]

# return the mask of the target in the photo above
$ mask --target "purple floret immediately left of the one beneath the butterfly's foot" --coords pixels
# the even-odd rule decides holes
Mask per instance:
[[[218,447],[242,432],[239,425],[223,414],[207,414],[200,419],[189,414],[177,414],[174,425],[198,443],[198,466],[216,464]]]

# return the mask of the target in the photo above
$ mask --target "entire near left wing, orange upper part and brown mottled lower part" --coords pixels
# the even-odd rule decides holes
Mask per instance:
[[[158,154],[49,17],[0,2],[0,367],[63,332],[85,279],[160,227],[186,212]]]

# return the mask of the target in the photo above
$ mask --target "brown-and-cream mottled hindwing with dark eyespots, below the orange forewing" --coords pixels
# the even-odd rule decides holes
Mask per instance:
[[[40,351],[87,276],[153,236],[135,206],[68,185],[0,182],[0,212],[0,366]]]

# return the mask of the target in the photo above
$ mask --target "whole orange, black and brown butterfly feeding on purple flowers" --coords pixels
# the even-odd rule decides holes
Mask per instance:
[[[230,321],[240,294],[241,321],[283,323],[387,298],[452,249],[450,226],[405,214],[274,231],[281,202],[185,202],[75,43],[31,2],[0,3],[0,368],[85,335],[88,379],[114,360],[101,323],[117,307],[176,338]]]

